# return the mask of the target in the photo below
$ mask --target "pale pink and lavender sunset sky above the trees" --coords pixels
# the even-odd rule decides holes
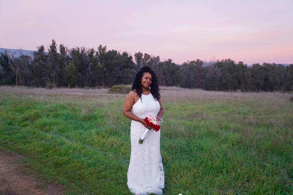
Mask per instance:
[[[293,63],[293,0],[0,0],[0,48],[52,39],[183,62]]]

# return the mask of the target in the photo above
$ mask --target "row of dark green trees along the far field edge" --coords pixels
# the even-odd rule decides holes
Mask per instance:
[[[255,63],[247,66],[231,59],[206,63],[200,59],[177,65],[159,56],[84,47],[65,48],[52,40],[48,52],[43,45],[27,55],[0,54],[0,84],[32,87],[112,87],[131,84],[142,66],[150,66],[161,86],[179,86],[218,91],[293,91],[293,64]]]

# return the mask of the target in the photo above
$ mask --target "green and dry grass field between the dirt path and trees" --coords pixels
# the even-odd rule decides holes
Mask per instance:
[[[162,87],[163,194],[292,194],[291,96]],[[131,194],[124,98],[0,87],[0,148],[67,194]]]

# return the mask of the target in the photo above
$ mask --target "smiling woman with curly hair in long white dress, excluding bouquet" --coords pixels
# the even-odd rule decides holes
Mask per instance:
[[[131,112],[132,110],[132,112]],[[136,74],[132,91],[125,98],[123,115],[132,119],[130,127],[131,154],[127,172],[127,185],[132,194],[162,194],[164,169],[160,153],[161,130],[150,130],[142,144],[138,141],[145,129],[151,127],[144,121],[152,115],[161,119],[164,109],[156,74],[143,66]]]

